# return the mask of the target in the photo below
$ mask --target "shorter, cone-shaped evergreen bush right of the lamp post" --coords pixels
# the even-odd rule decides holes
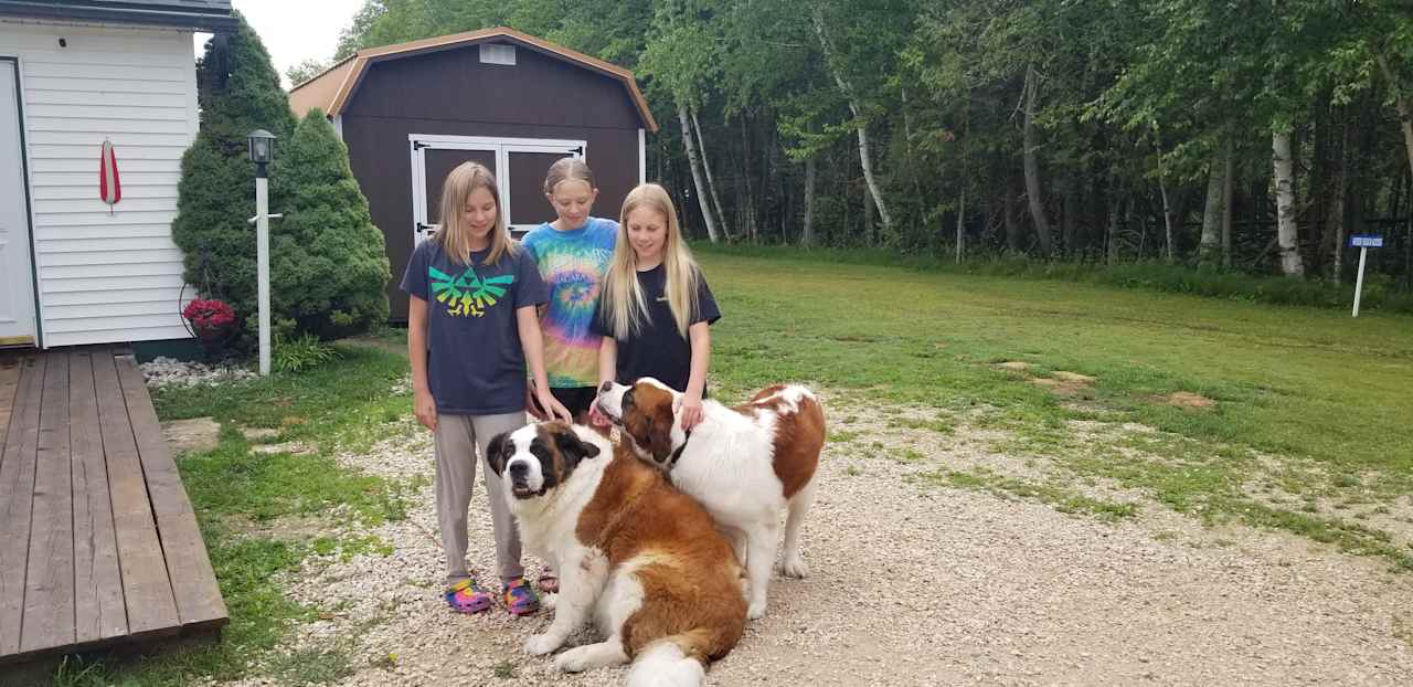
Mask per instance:
[[[270,229],[276,331],[331,339],[387,321],[383,232],[349,170],[348,148],[318,109],[300,122],[270,172],[284,219]]]

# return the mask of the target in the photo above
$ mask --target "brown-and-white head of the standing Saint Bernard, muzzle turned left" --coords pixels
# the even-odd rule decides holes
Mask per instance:
[[[595,403],[623,428],[639,458],[666,466],[673,451],[687,442],[677,421],[681,396],[653,377],[640,377],[633,386],[605,382]]]

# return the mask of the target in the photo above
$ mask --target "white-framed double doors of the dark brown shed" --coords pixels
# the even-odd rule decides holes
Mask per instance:
[[[506,225],[521,236],[554,219],[544,198],[544,174],[561,157],[585,157],[585,141],[547,139],[490,139],[480,136],[413,134],[413,236],[421,243],[441,226],[441,191],[447,174],[475,161],[486,165],[500,185]]]

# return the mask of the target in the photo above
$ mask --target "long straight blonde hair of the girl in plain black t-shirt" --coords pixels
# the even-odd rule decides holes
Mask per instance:
[[[663,291],[667,295],[667,305],[673,311],[677,334],[685,339],[691,317],[698,308],[697,280],[699,270],[677,226],[677,208],[673,205],[673,198],[667,195],[667,189],[657,184],[642,184],[623,199],[617,243],[613,247],[613,259],[609,262],[609,273],[603,280],[603,307],[608,322],[613,328],[613,338],[626,339],[642,332],[643,321],[647,318],[647,301],[637,283],[637,252],[633,250],[633,243],[627,237],[627,216],[639,208],[657,211],[667,222],[667,236],[663,239],[663,271],[667,278]]]

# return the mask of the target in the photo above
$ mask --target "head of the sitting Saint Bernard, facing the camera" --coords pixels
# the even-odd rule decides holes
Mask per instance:
[[[534,499],[569,481],[579,462],[599,447],[567,423],[527,424],[497,434],[486,447],[486,464],[516,499]]]

